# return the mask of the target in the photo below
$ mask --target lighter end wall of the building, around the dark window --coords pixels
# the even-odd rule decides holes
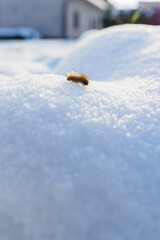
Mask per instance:
[[[79,37],[89,29],[102,28],[103,11],[83,0],[70,0],[66,9],[66,37]],[[74,26],[74,15],[79,15],[79,25]]]

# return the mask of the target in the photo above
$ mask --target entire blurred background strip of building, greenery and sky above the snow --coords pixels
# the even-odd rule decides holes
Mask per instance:
[[[160,1],[0,0],[0,39],[78,38],[125,23],[160,25]]]

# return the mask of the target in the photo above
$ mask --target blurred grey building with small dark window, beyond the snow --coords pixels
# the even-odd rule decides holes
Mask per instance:
[[[0,28],[33,27],[44,37],[76,38],[102,28],[104,0],[0,0]]]

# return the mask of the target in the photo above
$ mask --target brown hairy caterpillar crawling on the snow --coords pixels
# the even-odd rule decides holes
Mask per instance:
[[[89,84],[89,78],[81,73],[67,73],[67,80],[73,83],[80,83],[82,85]]]

